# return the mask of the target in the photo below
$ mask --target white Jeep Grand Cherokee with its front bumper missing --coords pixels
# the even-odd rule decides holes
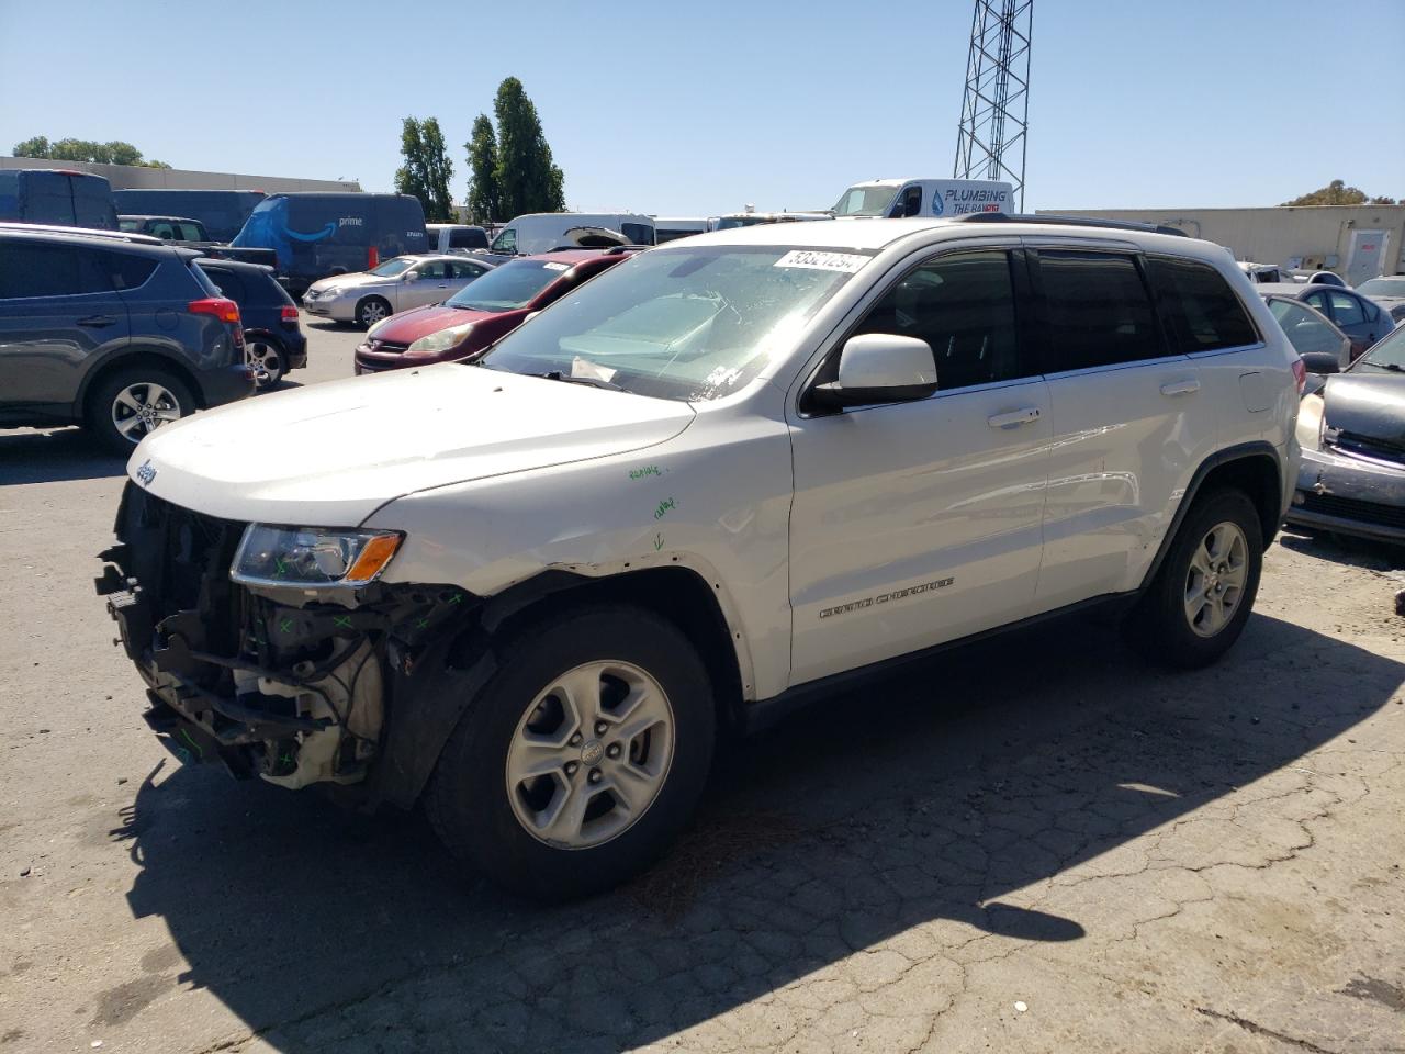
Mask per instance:
[[[1173,233],[726,230],[473,363],[167,426],[98,580],[146,720],[239,776],[423,800],[562,898],[666,847],[719,725],[856,673],[1093,601],[1211,662],[1302,374],[1229,254]]]

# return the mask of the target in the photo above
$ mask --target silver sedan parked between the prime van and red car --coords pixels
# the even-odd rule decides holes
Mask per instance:
[[[398,311],[447,301],[492,267],[465,256],[396,256],[370,271],[312,282],[302,306],[309,315],[368,329]]]

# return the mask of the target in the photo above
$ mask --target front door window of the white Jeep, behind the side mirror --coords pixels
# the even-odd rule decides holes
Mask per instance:
[[[1003,252],[943,256],[899,281],[856,333],[919,337],[932,346],[940,391],[1024,377]]]

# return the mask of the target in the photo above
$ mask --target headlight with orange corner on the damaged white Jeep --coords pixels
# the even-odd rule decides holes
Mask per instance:
[[[243,585],[358,587],[385,569],[403,537],[396,531],[251,523],[244,528],[229,576]]]

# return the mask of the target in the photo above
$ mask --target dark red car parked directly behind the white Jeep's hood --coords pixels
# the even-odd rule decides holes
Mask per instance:
[[[468,358],[627,256],[575,249],[509,260],[444,304],[392,315],[372,327],[355,350],[355,372]]]

